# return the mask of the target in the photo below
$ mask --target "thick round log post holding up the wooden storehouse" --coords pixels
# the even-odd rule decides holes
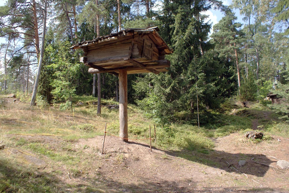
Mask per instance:
[[[127,131],[127,70],[119,70],[119,137],[128,142]],[[124,139],[125,138],[125,139]]]

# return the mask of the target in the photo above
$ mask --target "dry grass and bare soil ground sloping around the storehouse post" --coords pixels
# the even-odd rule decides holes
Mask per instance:
[[[289,192],[289,170],[276,164],[289,161],[288,135],[267,131],[267,140],[256,142],[241,130],[211,138],[214,147],[207,150],[166,149],[153,141],[150,152],[148,140],[125,143],[107,134],[101,155],[110,115],[96,119],[84,111],[6,102],[0,110],[0,192]],[[252,117],[250,129],[262,130],[271,113]]]

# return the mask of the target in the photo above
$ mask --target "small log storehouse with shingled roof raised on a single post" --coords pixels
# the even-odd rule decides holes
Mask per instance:
[[[128,138],[127,132],[127,74],[167,71],[170,61],[166,54],[173,50],[158,34],[158,27],[125,29],[91,41],[74,44],[82,48],[81,62],[89,66],[88,72],[110,73],[119,78],[120,137]],[[124,139],[124,141],[127,141]]]

